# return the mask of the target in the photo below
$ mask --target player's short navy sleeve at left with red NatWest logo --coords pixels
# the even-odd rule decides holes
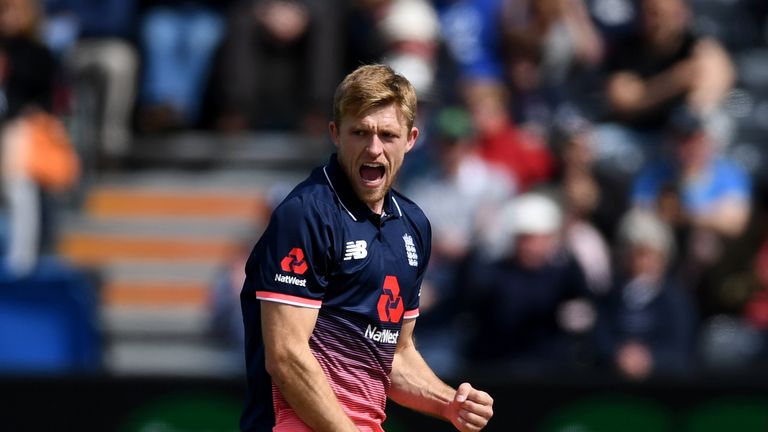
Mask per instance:
[[[328,287],[328,212],[304,197],[289,197],[246,264],[246,290],[257,299],[318,309]]]

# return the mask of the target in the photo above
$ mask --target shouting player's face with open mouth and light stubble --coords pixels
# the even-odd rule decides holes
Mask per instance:
[[[395,181],[405,154],[419,130],[408,128],[395,104],[373,108],[360,116],[345,116],[329,125],[341,167],[357,197],[381,213],[384,196]]]

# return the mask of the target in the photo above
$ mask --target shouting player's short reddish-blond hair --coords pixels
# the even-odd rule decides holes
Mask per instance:
[[[346,115],[360,115],[394,103],[405,117],[408,129],[416,120],[416,89],[402,75],[382,64],[363,65],[344,78],[333,96],[333,121],[341,124]]]

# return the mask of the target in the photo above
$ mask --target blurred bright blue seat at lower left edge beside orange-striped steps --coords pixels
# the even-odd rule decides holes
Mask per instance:
[[[100,367],[98,296],[86,274],[54,258],[24,278],[0,270],[0,373]]]

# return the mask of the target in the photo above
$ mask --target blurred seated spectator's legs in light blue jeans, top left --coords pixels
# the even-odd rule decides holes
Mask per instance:
[[[145,0],[139,128],[160,132],[195,126],[213,56],[224,34],[227,2]]]

